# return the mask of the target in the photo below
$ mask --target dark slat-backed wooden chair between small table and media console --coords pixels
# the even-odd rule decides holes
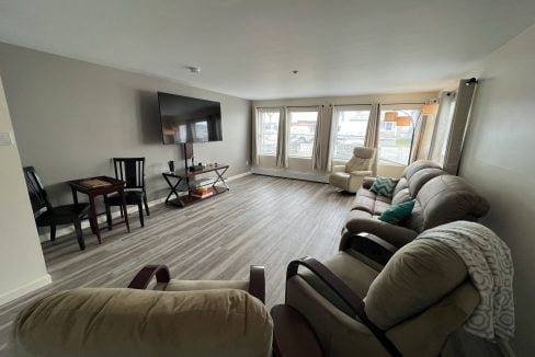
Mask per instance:
[[[115,169],[115,178],[125,182],[126,205],[137,205],[139,221],[141,227],[145,227],[143,216],[144,204],[147,216],[150,215],[149,205],[147,203],[147,192],[145,188],[145,158],[114,158],[113,165]],[[114,194],[105,197],[104,204],[109,222],[112,220],[110,206],[118,206],[121,217],[123,217],[123,199],[119,195]]]

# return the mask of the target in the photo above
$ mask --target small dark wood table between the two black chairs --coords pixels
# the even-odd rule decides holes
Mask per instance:
[[[88,185],[88,182],[90,181],[101,181],[104,182],[105,184],[99,186],[90,186]],[[121,197],[123,197],[124,221],[122,222],[126,224],[126,229],[128,233],[130,232],[130,226],[128,224],[128,212],[126,211],[124,181],[109,177],[109,176],[95,176],[95,177],[72,180],[69,181],[68,184],[70,186],[70,189],[72,191],[72,199],[75,200],[75,204],[78,204],[78,193],[88,195],[89,206],[90,206],[89,222],[91,224],[91,230],[93,231],[93,233],[96,235],[96,239],[99,240],[99,244],[102,243],[102,241],[100,235],[99,221],[96,219],[99,215],[96,212],[95,197],[98,196],[104,196],[105,199],[107,195],[117,193]],[[107,228],[112,229],[113,222],[110,214],[106,215],[106,220],[107,220]]]

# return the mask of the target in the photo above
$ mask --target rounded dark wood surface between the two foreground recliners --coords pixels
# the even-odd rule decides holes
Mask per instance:
[[[321,346],[305,316],[287,304],[271,309],[274,357],[321,357]]]

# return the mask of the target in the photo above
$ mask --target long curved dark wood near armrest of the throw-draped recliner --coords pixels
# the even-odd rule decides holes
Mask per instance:
[[[321,281],[327,284],[327,286],[340,298],[348,307],[353,311],[355,316],[369,329],[369,331],[375,335],[375,337],[380,342],[383,347],[390,353],[391,356],[400,357],[398,348],[394,343],[388,339],[385,331],[375,325],[366,315],[364,310],[364,301],[358,297],[351,288],[343,283],[338,276],[335,276],[329,268],[323,264],[315,260],[314,257],[305,256],[300,260],[292,261],[288,264],[286,270],[286,280],[297,275],[299,266],[304,266],[310,272],[312,272]]]

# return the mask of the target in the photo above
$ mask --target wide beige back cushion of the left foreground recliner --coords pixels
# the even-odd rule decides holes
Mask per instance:
[[[76,289],[33,302],[14,356],[270,356],[273,323],[241,290]]]

